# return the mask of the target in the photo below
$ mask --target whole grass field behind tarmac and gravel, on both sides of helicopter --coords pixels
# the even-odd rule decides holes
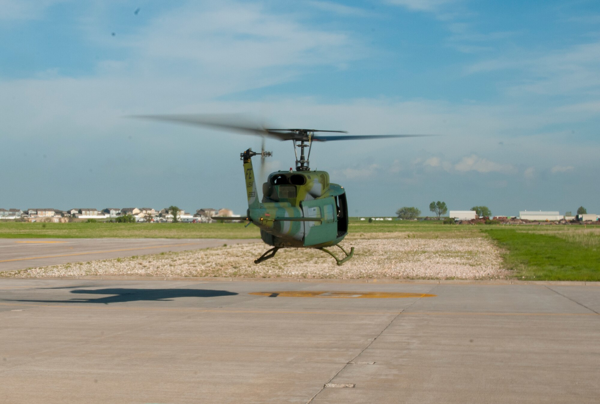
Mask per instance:
[[[259,238],[244,224],[0,223],[0,238]],[[427,221],[350,222],[348,241],[490,237],[518,279],[600,281],[600,227],[581,225],[443,225]]]

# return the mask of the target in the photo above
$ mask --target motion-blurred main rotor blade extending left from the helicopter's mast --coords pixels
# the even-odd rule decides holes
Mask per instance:
[[[241,115],[233,114],[159,114],[159,115],[131,115],[130,117],[140,119],[161,120],[163,122],[184,123],[193,126],[209,126],[220,130],[229,130],[241,134],[268,136],[279,140],[290,140],[295,138],[293,133],[273,132],[260,125],[253,125],[249,120],[244,121]]]

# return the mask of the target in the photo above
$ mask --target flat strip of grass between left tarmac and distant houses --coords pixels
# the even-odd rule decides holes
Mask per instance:
[[[243,223],[0,223],[0,238],[254,239],[256,226]]]

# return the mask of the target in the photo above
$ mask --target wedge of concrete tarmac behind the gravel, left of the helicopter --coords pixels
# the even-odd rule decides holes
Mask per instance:
[[[0,272],[256,242],[260,239],[0,239]]]

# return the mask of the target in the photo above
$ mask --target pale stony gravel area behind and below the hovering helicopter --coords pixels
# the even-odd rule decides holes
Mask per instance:
[[[404,237],[404,238],[403,238]],[[352,239],[344,248],[355,247],[352,260],[337,266],[333,258],[313,249],[281,249],[275,258],[261,264],[253,260],[268,249],[262,243],[223,246],[196,251],[117,258],[115,260],[3,272],[8,277],[60,277],[84,275],[130,276],[220,276],[259,278],[505,278],[499,249],[490,240]],[[331,248],[335,254],[341,252]],[[343,257],[339,254],[338,257]]]

